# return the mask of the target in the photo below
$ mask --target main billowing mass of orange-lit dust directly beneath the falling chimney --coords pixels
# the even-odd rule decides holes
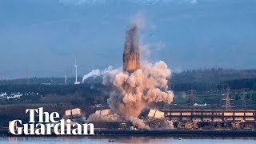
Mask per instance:
[[[170,75],[170,69],[162,61],[154,65],[144,63],[131,74],[110,70],[103,76],[103,84],[115,87],[108,99],[111,110],[127,120],[138,117],[152,102],[172,102],[174,94],[167,86]]]

